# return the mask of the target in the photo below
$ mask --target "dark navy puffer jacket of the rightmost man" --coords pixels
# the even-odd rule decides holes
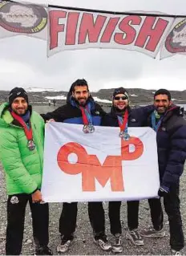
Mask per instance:
[[[148,126],[152,127],[151,116]],[[186,159],[186,120],[180,107],[172,105],[165,114],[156,136],[161,185],[179,184]]]

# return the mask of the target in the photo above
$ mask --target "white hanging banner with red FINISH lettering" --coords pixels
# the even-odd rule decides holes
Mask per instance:
[[[59,51],[110,48],[139,51],[153,58],[173,18],[91,13],[49,8],[48,55]]]

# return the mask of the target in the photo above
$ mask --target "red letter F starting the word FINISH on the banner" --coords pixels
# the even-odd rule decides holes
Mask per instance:
[[[64,24],[59,24],[59,18],[66,18],[67,12],[63,10],[50,11],[50,50],[58,47],[59,32],[64,31]]]

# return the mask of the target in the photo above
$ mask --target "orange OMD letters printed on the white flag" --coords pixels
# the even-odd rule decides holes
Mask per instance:
[[[135,147],[130,152],[129,145]],[[107,156],[103,165],[95,155],[88,155],[82,145],[74,142],[67,143],[59,149],[57,161],[59,168],[67,174],[82,173],[83,191],[95,191],[95,179],[103,187],[110,179],[112,191],[123,191],[122,161],[132,161],[139,158],[144,152],[144,144],[139,138],[130,137],[130,140],[121,140],[121,156]],[[68,157],[75,153],[77,162],[70,163]]]

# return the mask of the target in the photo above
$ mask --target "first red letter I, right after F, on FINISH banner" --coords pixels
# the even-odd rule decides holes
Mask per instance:
[[[67,35],[66,45],[75,45],[75,35],[77,30],[77,24],[79,20],[79,14],[77,12],[70,12],[67,18]]]

